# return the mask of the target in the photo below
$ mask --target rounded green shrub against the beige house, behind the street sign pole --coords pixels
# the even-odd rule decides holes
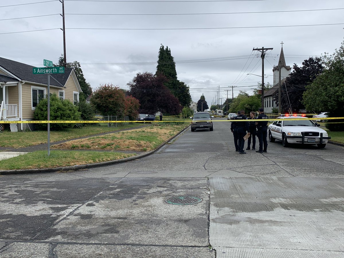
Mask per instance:
[[[48,119],[48,99],[47,96],[40,99],[33,113],[34,120],[45,121]],[[78,107],[68,99],[60,99],[54,93],[50,96],[50,120],[80,120]],[[73,128],[75,123],[51,123],[51,130]],[[47,123],[36,123],[35,128],[38,130],[47,130]]]

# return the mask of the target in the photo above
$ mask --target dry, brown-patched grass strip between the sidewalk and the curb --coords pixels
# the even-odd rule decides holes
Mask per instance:
[[[150,151],[176,135],[185,126],[154,125],[103,136],[72,140],[53,145],[54,149]]]

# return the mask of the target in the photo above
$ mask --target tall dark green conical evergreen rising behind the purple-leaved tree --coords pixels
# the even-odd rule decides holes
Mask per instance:
[[[171,49],[161,44],[158,56],[157,72],[155,75],[163,74],[167,78],[164,85],[171,90],[172,94],[178,98],[183,107],[189,107],[191,95],[189,86],[177,79],[174,58],[171,55]]]

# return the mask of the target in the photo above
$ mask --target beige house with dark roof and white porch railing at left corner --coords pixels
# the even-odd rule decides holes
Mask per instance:
[[[34,66],[0,57],[0,130],[1,121],[28,121],[33,119],[37,103],[47,94],[48,75],[33,74]],[[64,74],[51,74],[50,93],[76,104],[82,92],[73,68]],[[23,130],[28,123],[11,124],[11,131]],[[16,128],[15,128],[16,127]]]

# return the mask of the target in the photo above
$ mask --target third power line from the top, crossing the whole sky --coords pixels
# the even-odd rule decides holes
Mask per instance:
[[[255,29],[255,28],[281,28],[281,27],[302,27],[302,26],[322,26],[322,25],[343,25],[344,23],[327,23],[327,24],[304,24],[304,25],[280,25],[280,26],[245,26],[245,27],[218,27],[218,28],[154,28],[154,29],[142,29],[142,28],[66,28],[67,30],[213,30],[213,29]],[[23,32],[34,31],[46,31],[46,30],[58,30],[61,28],[44,29],[44,30],[32,30],[32,31],[17,31],[17,32],[5,32],[1,34],[13,34]]]

